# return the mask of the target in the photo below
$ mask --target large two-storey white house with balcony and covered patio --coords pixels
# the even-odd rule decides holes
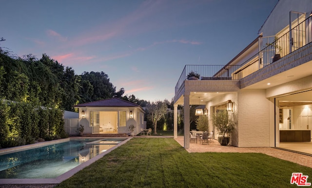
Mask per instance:
[[[233,146],[311,141],[312,0],[279,0],[272,8],[258,37],[225,66],[184,67],[175,88],[174,137],[177,105],[184,105],[185,148],[190,147],[190,104],[206,106],[216,139],[213,114],[230,102]],[[200,78],[188,80],[191,71]]]

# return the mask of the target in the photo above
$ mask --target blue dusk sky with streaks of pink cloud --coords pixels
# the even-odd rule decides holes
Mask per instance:
[[[185,65],[226,65],[278,0],[1,0],[1,47],[103,71],[125,95],[171,99]]]

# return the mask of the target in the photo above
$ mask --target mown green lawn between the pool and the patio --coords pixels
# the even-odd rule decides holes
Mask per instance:
[[[296,187],[311,168],[256,153],[188,153],[173,138],[132,138],[59,188]],[[309,181],[310,180],[310,181]]]

